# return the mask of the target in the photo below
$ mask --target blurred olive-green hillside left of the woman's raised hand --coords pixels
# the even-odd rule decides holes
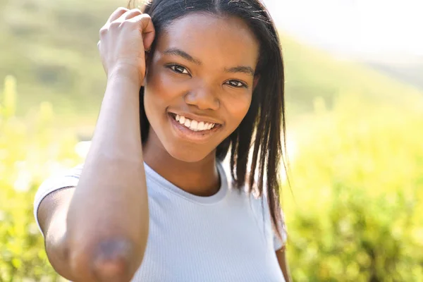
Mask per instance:
[[[1,1],[0,77],[18,79],[18,114],[46,99],[68,114],[90,114],[99,107],[105,78],[98,33],[119,4],[124,3]]]

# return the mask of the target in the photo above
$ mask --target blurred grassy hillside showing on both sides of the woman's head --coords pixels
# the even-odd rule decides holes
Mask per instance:
[[[97,52],[99,28],[117,0],[3,0],[0,2],[0,78],[18,80],[18,115],[44,100],[59,116],[87,116],[94,121],[105,88]],[[360,93],[376,103],[403,104],[423,97],[364,64],[336,59],[283,37],[288,110],[307,113],[313,98],[331,106],[344,92]]]

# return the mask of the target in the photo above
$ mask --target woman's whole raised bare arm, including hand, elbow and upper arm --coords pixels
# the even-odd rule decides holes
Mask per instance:
[[[100,37],[108,81],[90,152],[77,187],[45,197],[38,219],[59,274],[72,281],[130,281],[149,228],[139,90],[154,27],[139,10],[119,8]]]

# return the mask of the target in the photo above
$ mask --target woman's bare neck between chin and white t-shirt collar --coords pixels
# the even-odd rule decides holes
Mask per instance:
[[[180,161],[168,154],[157,135],[150,128],[142,154],[149,167],[185,192],[209,197],[216,194],[220,188],[215,150],[200,161]]]

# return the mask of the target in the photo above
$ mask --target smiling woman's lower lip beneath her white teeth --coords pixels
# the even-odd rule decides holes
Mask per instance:
[[[168,113],[168,119],[171,123],[171,127],[173,129],[173,132],[180,138],[184,140],[188,140],[189,142],[198,143],[198,144],[204,144],[208,142],[217,131],[221,130],[222,125],[216,124],[214,128],[206,130],[206,131],[192,131],[188,128],[186,128],[184,125],[181,125],[178,123],[178,121],[175,120],[172,116],[173,113]]]

